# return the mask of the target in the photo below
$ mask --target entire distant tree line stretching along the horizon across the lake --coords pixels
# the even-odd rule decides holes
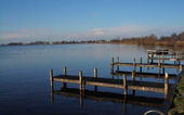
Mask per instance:
[[[83,40],[83,41],[35,41],[29,43],[10,42],[8,46],[23,44],[63,44],[63,43],[126,43],[126,44],[143,44],[143,46],[168,46],[168,47],[184,47],[184,31],[181,34],[172,34],[171,36],[161,36],[157,38],[155,35],[144,37],[120,38],[111,40]]]

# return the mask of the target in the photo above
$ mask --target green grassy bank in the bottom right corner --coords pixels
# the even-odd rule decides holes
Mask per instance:
[[[181,77],[173,99],[173,107],[168,112],[169,115],[184,114],[184,75]]]

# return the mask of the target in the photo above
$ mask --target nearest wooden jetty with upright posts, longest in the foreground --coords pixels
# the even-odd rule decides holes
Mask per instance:
[[[165,98],[168,97],[168,90],[170,88],[168,77],[166,73],[165,84],[160,82],[148,82],[148,81],[136,81],[135,75],[132,74],[132,80],[127,80],[126,74],[123,74],[123,79],[111,79],[111,78],[98,78],[97,69],[94,68],[94,76],[82,76],[82,72],[79,72],[78,76],[67,75],[66,67],[64,67],[64,75],[53,76],[53,71],[50,69],[50,82],[51,88],[54,89],[54,81],[66,84],[78,84],[80,90],[86,90],[86,86],[95,87],[110,87],[123,89],[123,93],[127,94],[127,90],[141,90],[141,91],[153,91],[165,93]]]

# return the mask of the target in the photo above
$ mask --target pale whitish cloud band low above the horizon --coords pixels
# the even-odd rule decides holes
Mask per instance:
[[[173,33],[181,33],[184,26],[140,26],[126,25],[109,28],[93,28],[88,31],[62,34],[54,33],[47,28],[25,28],[19,30],[0,30],[0,40],[36,41],[36,40],[87,40],[97,38],[136,37],[155,34],[156,36],[169,36]]]

